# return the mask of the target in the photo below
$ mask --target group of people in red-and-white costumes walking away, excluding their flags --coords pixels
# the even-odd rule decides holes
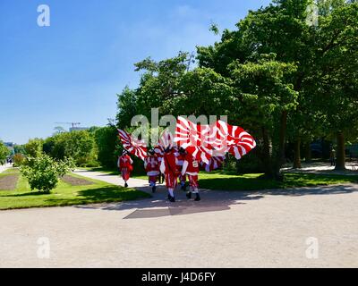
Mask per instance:
[[[128,152],[124,150],[123,155],[118,158],[118,167],[122,173],[124,187],[128,187],[127,181],[132,172],[132,159]],[[191,154],[188,154],[182,147],[177,151],[174,147],[167,147],[163,156],[157,156],[153,149],[149,150],[148,156],[144,160],[144,168],[149,178],[149,185],[152,192],[156,192],[157,181],[160,181],[164,174],[168,200],[175,202],[175,189],[178,181],[181,189],[186,191],[186,181],[189,181],[189,189],[186,191],[186,198],[190,199],[194,195],[194,200],[200,200],[199,194],[199,161]]]

